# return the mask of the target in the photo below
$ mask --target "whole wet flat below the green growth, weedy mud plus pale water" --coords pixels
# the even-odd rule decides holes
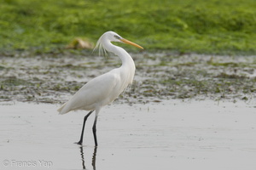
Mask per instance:
[[[1,56],[0,169],[245,169],[256,167],[256,58],[131,54],[133,85],[90,116],[57,108],[120,65],[90,54]]]

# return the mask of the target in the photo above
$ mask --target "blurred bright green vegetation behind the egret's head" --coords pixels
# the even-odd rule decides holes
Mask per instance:
[[[0,0],[0,50],[49,52],[116,31],[149,51],[253,54],[255,0]]]

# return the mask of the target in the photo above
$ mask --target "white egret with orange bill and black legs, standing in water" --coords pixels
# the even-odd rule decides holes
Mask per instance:
[[[100,37],[96,43],[96,48],[98,47],[100,52],[101,50],[103,50],[103,52],[107,50],[108,52],[118,55],[119,59],[122,61],[122,65],[84,84],[84,86],[58,110],[61,115],[76,110],[90,111],[84,116],[82,133],[77,144],[83,143],[85,122],[88,116],[90,116],[93,111],[96,111],[92,131],[95,145],[97,146],[96,122],[102,106],[108,105],[113,102],[114,99],[117,99],[119,94],[133,81],[135,65],[131,55],[128,54],[125,49],[115,46],[111,42],[125,42],[137,48],[143,48],[134,42],[120,37],[113,31],[107,31]]]

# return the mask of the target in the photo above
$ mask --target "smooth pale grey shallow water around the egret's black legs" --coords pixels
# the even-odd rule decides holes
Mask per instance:
[[[243,169],[256,167],[255,102],[164,100],[108,105],[95,149],[83,111],[59,105],[1,103],[1,169]]]

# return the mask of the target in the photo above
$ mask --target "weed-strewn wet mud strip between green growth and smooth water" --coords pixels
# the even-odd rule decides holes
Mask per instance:
[[[121,103],[161,99],[252,100],[255,56],[131,54],[137,71]],[[119,67],[116,56],[17,54],[1,56],[0,100],[63,103],[84,83]]]

